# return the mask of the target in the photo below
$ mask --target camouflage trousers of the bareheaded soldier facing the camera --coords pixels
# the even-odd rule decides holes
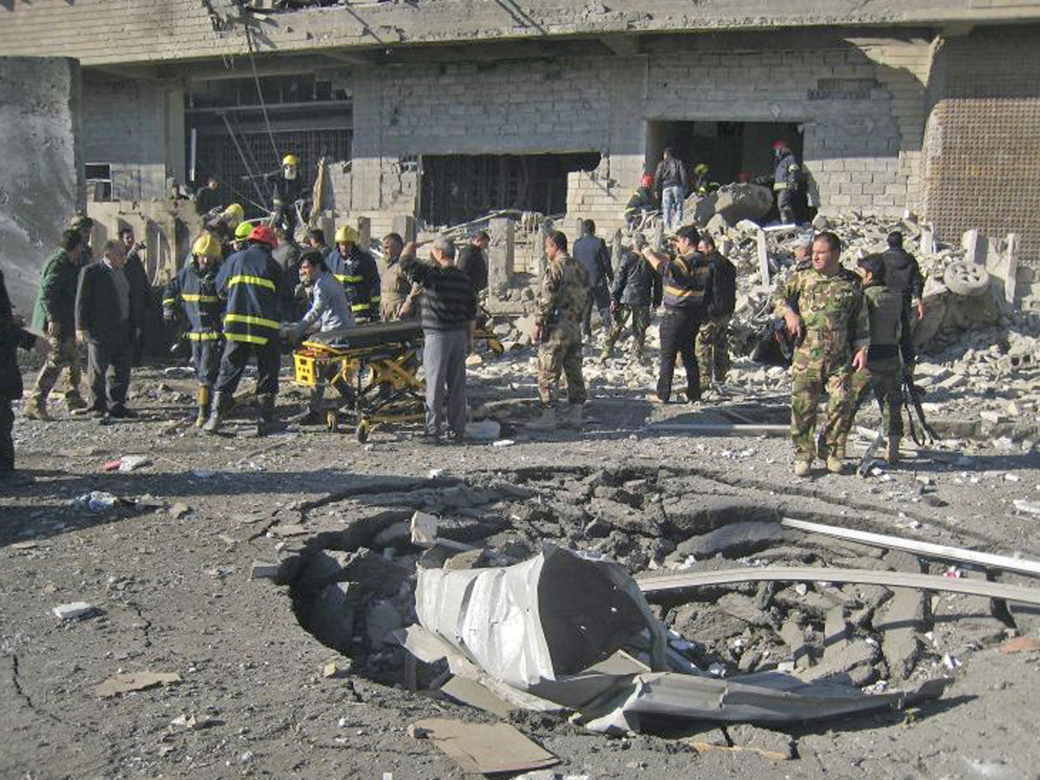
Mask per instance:
[[[796,461],[811,461],[816,454],[816,406],[825,390],[824,441],[834,452],[843,448],[852,427],[852,368],[846,360],[812,360],[799,347],[790,375],[790,438]]]

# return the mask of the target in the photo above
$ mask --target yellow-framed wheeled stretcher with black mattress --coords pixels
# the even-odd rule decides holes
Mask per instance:
[[[376,425],[423,419],[421,344],[422,328],[415,320],[311,334],[292,355],[294,384],[340,391],[341,402],[326,411],[326,427],[336,433],[349,419],[364,443]]]

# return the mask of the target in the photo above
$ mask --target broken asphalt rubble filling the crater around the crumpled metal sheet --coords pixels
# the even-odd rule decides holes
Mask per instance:
[[[674,572],[818,568],[811,582],[647,593],[653,617],[667,626],[673,667],[681,658],[686,674],[709,679],[772,671],[879,693],[945,675],[965,654],[1013,633],[1014,618],[986,598],[841,584],[826,574],[835,567],[946,577],[972,572],[791,528],[779,522],[775,499],[737,499],[717,488],[667,469],[573,468],[366,492],[323,505],[322,517],[356,519],[344,531],[318,527],[310,543],[284,550],[279,576],[290,584],[305,627],[346,653],[353,672],[388,683],[401,679],[409,657],[401,631],[421,617],[417,570],[511,566],[530,561],[546,543],[607,556],[641,583]],[[476,596],[462,603],[470,598]],[[417,683],[437,688],[445,676],[443,665],[421,666]]]

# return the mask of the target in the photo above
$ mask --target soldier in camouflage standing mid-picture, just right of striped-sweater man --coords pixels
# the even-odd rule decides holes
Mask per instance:
[[[589,276],[576,260],[567,254],[567,236],[560,231],[545,239],[545,256],[549,261],[542,275],[535,311],[535,341],[538,342],[538,396],[542,416],[528,424],[535,431],[556,427],[552,407],[552,388],[561,371],[567,376],[567,398],[570,407],[558,424],[579,427],[581,406],[586,401],[584,380],[581,376],[581,314],[589,296]]]

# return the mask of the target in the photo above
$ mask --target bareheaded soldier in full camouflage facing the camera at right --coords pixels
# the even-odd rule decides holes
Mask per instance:
[[[777,314],[799,341],[791,362],[790,434],[795,474],[809,473],[814,452],[816,402],[827,390],[824,430],[827,470],[841,473],[841,451],[852,425],[852,372],[866,367],[869,321],[859,278],[841,267],[841,242],[830,231],[812,242],[812,267],[783,286]]]

